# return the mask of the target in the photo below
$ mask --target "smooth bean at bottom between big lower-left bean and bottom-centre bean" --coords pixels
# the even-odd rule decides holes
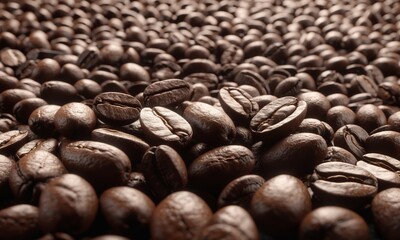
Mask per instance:
[[[148,238],[155,205],[144,193],[129,187],[113,187],[103,192],[99,200],[101,212],[113,232]]]

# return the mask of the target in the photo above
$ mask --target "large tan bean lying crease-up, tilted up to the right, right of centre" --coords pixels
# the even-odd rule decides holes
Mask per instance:
[[[307,104],[295,97],[278,98],[267,104],[250,121],[253,134],[273,142],[293,133],[306,116]]]

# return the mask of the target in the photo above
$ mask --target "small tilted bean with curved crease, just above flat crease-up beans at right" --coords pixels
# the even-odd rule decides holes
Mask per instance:
[[[368,133],[362,127],[354,124],[347,124],[335,132],[333,144],[346,149],[356,158],[361,159],[366,153],[364,145],[368,136]]]

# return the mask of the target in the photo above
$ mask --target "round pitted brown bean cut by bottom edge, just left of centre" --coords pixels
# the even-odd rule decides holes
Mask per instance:
[[[200,197],[187,191],[175,192],[154,210],[150,223],[151,239],[194,239],[211,217],[210,208]]]

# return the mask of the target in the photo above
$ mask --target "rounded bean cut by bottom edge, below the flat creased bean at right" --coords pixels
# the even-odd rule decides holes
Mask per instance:
[[[357,213],[342,207],[320,207],[307,214],[301,222],[299,239],[354,239],[369,238],[368,225]]]

